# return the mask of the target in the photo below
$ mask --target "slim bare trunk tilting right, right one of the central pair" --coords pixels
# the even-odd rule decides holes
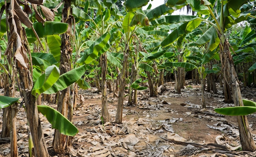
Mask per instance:
[[[118,93],[117,114],[115,117],[115,123],[118,123],[118,124],[122,123],[122,120],[123,120],[124,88],[126,85],[126,76],[127,76],[126,74],[128,70],[128,56],[130,54],[130,49],[128,44],[126,44],[125,46],[124,61],[123,61],[121,76],[118,76],[118,78],[120,78],[119,80],[120,87],[119,87],[119,93]]]

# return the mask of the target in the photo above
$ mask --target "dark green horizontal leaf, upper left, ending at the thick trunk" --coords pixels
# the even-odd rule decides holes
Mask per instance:
[[[63,34],[67,31],[67,26],[67,23],[54,21],[46,21],[44,24],[41,22],[35,22],[33,24],[33,27],[36,30],[36,33],[38,34],[39,38],[52,36],[55,34]],[[25,31],[29,43],[33,43],[34,41],[36,41],[36,36],[32,29],[26,28]]]

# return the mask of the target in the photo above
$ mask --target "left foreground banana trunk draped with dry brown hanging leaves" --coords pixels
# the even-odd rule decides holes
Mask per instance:
[[[24,98],[25,108],[27,113],[27,123],[31,128],[31,135],[34,144],[34,152],[36,157],[49,157],[47,146],[45,144],[43,130],[38,115],[36,98],[31,94],[33,87],[32,76],[30,72],[30,64],[27,54],[30,53],[29,46],[27,45],[27,37],[25,29],[22,28],[21,22],[27,27],[32,27],[32,22],[29,20],[27,14],[22,11],[20,5],[16,0],[11,0],[8,8],[8,25],[9,25],[9,39],[5,55],[14,52],[16,61],[16,68],[18,69],[19,77],[18,86],[20,87],[21,96]],[[21,21],[22,20],[22,21]],[[30,56],[30,55],[29,55]],[[12,67],[14,70],[14,67]],[[13,105],[11,110],[12,127],[16,127],[16,109],[17,104]],[[15,133],[13,128],[11,131]],[[11,137],[11,146],[13,147],[12,155],[16,156],[16,133]],[[15,146],[16,145],[16,146]]]

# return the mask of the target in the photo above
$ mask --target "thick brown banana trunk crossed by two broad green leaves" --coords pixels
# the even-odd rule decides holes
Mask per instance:
[[[71,70],[71,54],[72,46],[70,44],[70,34],[72,34],[72,16],[71,16],[71,1],[64,1],[64,8],[62,12],[62,22],[68,23],[67,32],[61,35],[61,59],[60,59],[60,74],[64,74]],[[70,98],[70,94],[76,99],[76,95],[73,90],[67,87],[65,90],[58,92],[57,110],[69,121],[72,122],[73,116],[73,102]],[[62,135],[58,130],[54,132],[53,149],[58,154],[65,153],[67,146],[72,146],[72,137]]]

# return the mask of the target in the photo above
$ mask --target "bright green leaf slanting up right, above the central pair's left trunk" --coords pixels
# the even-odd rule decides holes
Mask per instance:
[[[79,65],[91,63],[95,58],[99,57],[104,52],[108,51],[110,45],[110,34],[107,32],[97,39],[88,49],[88,52],[77,60]]]

